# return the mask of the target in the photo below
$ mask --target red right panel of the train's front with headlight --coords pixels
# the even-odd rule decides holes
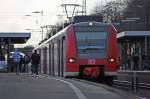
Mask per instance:
[[[105,75],[116,75],[118,69],[117,31],[112,25],[108,27],[107,41],[107,64],[105,65]]]

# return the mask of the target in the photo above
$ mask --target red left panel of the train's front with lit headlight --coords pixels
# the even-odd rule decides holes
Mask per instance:
[[[79,66],[76,54],[76,42],[73,25],[66,30],[66,68],[65,76],[78,76]]]

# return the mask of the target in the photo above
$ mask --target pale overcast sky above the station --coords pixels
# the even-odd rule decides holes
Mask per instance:
[[[87,0],[87,12],[106,1]],[[62,2],[82,4],[82,0],[0,0],[0,32],[31,32],[31,38],[22,46],[37,45],[41,40],[39,27],[57,22],[62,14]],[[35,11],[43,11],[43,15],[32,13]]]

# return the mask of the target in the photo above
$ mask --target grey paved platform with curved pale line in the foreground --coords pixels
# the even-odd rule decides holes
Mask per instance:
[[[1,99],[138,99],[105,85],[49,75],[1,73],[0,89]]]

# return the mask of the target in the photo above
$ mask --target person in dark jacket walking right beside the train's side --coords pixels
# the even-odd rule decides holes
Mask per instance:
[[[37,53],[37,50],[34,50],[34,53],[31,55],[31,72],[38,75],[38,65],[40,61],[40,55]]]

